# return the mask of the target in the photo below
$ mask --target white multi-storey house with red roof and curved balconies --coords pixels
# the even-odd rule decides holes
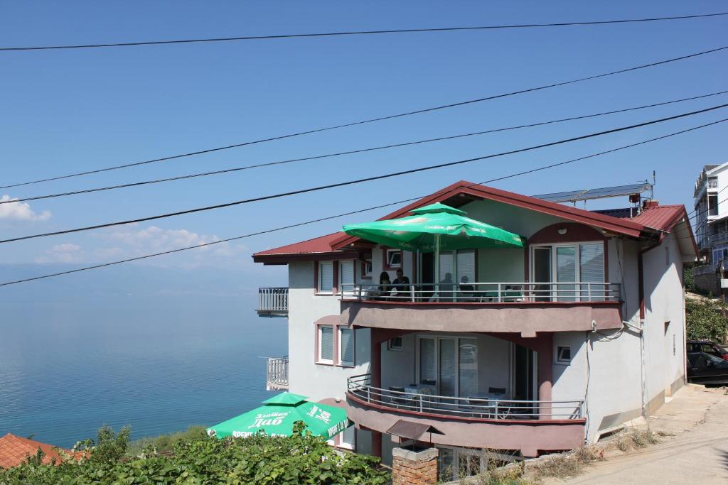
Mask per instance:
[[[419,440],[441,473],[476,473],[479,450],[572,449],[681,387],[681,276],[697,255],[683,206],[619,218],[459,182],[384,219],[438,201],[524,247],[443,252],[438,275],[432,253],[344,233],[253,255],[288,265],[287,302],[260,290],[261,314],[288,314],[288,375],[269,381],[347,407],[354,426],[333,444],[390,462],[396,422],[431,425]],[[412,284],[382,296],[397,270]]]

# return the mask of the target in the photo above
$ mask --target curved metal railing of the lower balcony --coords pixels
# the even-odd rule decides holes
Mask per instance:
[[[583,417],[584,401],[517,401],[478,397],[433,396],[400,390],[375,388],[371,374],[347,379],[349,394],[367,404],[394,411],[439,414],[461,418],[493,420],[578,420]]]

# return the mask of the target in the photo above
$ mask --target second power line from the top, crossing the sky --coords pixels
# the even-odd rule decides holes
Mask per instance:
[[[249,141],[249,142],[235,143],[234,145],[226,145],[226,146],[221,146],[221,147],[216,147],[216,148],[206,148],[204,150],[192,151],[192,152],[187,152],[187,153],[180,153],[178,155],[164,156],[164,157],[160,157],[158,159],[135,161],[135,162],[132,162],[132,163],[129,163],[129,164],[116,165],[116,166],[113,166],[113,167],[105,167],[105,168],[102,168],[102,169],[87,170],[85,172],[76,172],[76,173],[68,174],[68,175],[59,175],[58,177],[47,177],[47,178],[43,178],[43,179],[39,179],[39,180],[31,180],[29,182],[14,183],[14,184],[10,184],[10,185],[1,185],[0,186],[0,189],[20,187],[22,185],[31,185],[31,184],[43,183],[43,182],[51,182],[53,180],[63,180],[63,179],[71,178],[71,177],[80,177],[82,175],[97,174],[97,173],[100,173],[100,172],[108,172],[110,170],[125,169],[125,168],[128,168],[128,167],[138,167],[140,165],[154,164],[154,163],[161,162],[161,161],[170,161],[170,160],[175,160],[175,159],[182,159],[182,158],[189,157],[189,156],[202,155],[204,153],[213,153],[213,152],[218,152],[218,151],[223,151],[223,150],[229,150],[231,148],[240,148],[242,146],[247,146],[247,145],[256,145],[257,143],[266,143],[266,142],[270,142],[270,141],[274,141],[274,140],[283,140],[285,138],[292,138],[292,137],[298,137],[298,136],[303,136],[303,135],[311,135],[313,133],[327,132],[327,131],[330,131],[330,130],[333,130],[333,129],[347,128],[347,127],[355,127],[355,126],[360,125],[360,124],[374,123],[376,121],[384,121],[384,120],[388,120],[388,119],[397,119],[397,118],[402,118],[403,116],[412,116],[412,115],[421,114],[421,113],[430,113],[431,111],[439,111],[439,110],[448,109],[448,108],[455,108],[457,106],[470,105],[470,104],[473,104],[473,103],[482,103],[484,101],[495,100],[495,99],[499,99],[499,98],[502,98],[502,97],[509,97],[509,96],[514,96],[514,95],[521,95],[521,94],[525,94],[527,92],[535,92],[535,91],[540,91],[540,90],[543,90],[543,89],[550,89],[550,88],[553,88],[553,87],[566,86],[567,84],[574,84],[574,83],[578,83],[578,82],[582,82],[582,81],[589,81],[591,79],[599,79],[599,78],[603,78],[603,77],[606,77],[606,76],[614,76],[615,74],[621,74],[621,73],[627,73],[627,72],[631,72],[631,71],[637,71],[638,69],[650,68],[650,67],[654,67],[656,65],[673,63],[673,62],[676,62],[678,60],[686,60],[686,59],[690,59],[692,57],[697,57],[697,56],[700,56],[700,55],[713,54],[715,52],[720,52],[720,51],[723,51],[725,49],[728,49],[728,46],[717,47],[716,49],[709,49],[709,50],[705,50],[705,51],[702,51],[702,52],[695,52],[693,54],[684,55],[684,56],[680,56],[680,57],[673,57],[671,59],[661,60],[661,61],[657,61],[657,62],[654,62],[654,63],[642,64],[642,65],[638,65],[638,66],[635,66],[635,67],[632,67],[632,68],[620,69],[618,71],[610,71],[608,73],[596,74],[594,76],[586,76],[586,77],[582,77],[582,78],[579,78],[579,79],[571,79],[570,81],[561,81],[561,82],[558,82],[558,83],[546,84],[544,86],[532,87],[532,88],[529,88],[529,89],[521,89],[519,91],[506,92],[506,93],[502,93],[502,94],[499,94],[499,95],[492,95],[492,96],[487,96],[487,97],[480,97],[480,98],[473,99],[473,100],[461,101],[459,103],[450,103],[450,104],[447,104],[447,105],[439,105],[439,106],[435,106],[435,107],[432,107],[432,108],[423,108],[423,109],[416,110],[416,111],[407,111],[405,113],[397,113],[397,114],[388,115],[388,116],[379,116],[378,118],[365,119],[365,120],[362,120],[362,121],[353,121],[351,123],[338,124],[338,125],[333,125],[331,127],[324,127],[324,128],[317,128],[317,129],[309,129],[309,130],[302,131],[302,132],[289,133],[288,135],[278,135],[278,136],[275,136],[275,137],[263,138],[261,140],[253,140],[253,141]]]

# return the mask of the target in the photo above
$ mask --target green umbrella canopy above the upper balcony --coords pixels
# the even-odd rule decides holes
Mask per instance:
[[[466,212],[431,204],[412,211],[413,215],[371,223],[344,225],[344,232],[367,241],[408,251],[471,249],[476,247],[523,247],[523,238],[493,225],[466,217]]]

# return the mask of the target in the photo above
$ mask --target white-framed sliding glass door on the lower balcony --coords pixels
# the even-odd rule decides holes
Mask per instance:
[[[417,337],[417,381],[435,384],[439,396],[472,396],[478,392],[478,339]]]

